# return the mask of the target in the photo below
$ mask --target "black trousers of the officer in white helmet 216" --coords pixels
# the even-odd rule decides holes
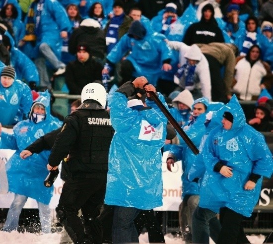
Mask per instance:
[[[84,238],[90,239],[91,236],[92,242],[102,243],[102,227],[97,217],[104,201],[106,181],[105,174],[98,179],[69,179],[65,182],[56,212],[74,243],[80,243]],[[84,224],[77,216],[79,209]],[[85,234],[84,229],[90,233]]]

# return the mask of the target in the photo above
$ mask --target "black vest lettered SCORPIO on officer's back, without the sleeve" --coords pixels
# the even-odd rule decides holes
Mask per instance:
[[[107,173],[109,148],[114,134],[109,113],[102,109],[83,109],[75,114],[80,120],[80,135],[69,151],[69,169],[86,174]]]

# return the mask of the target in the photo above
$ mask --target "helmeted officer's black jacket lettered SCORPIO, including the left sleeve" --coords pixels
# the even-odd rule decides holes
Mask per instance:
[[[48,162],[58,166],[69,154],[68,168],[72,177],[106,175],[113,135],[109,113],[93,100],[87,100],[65,119]]]

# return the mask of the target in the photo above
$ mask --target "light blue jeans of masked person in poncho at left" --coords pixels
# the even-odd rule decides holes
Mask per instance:
[[[5,225],[3,227],[3,231],[11,232],[16,231],[18,228],[19,223],[19,216],[22,211],[25,202],[27,201],[27,196],[15,194],[14,200],[11,203],[7,216]],[[51,232],[51,216],[50,216],[50,208],[49,205],[44,203],[38,202],[38,209],[39,209],[39,217],[40,223],[42,227],[43,233],[50,233]]]

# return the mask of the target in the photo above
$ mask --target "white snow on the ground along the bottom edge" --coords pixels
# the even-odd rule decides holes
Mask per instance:
[[[265,240],[265,236],[263,235],[255,235],[255,236],[247,236],[248,240],[251,244],[262,244]],[[0,243],[1,244],[59,244],[60,243],[61,234],[60,233],[52,233],[52,234],[33,234],[29,232],[18,233],[13,231],[11,233],[0,231]],[[165,235],[166,244],[185,244],[179,238],[174,237],[172,234]],[[148,235],[147,233],[139,236],[140,244],[148,243]],[[214,244],[214,242],[210,242],[210,244]]]

